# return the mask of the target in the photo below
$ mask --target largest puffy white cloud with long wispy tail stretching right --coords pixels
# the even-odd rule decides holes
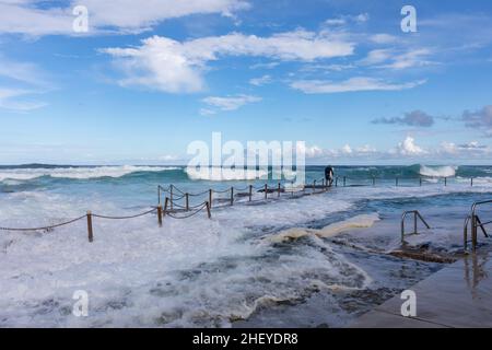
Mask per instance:
[[[164,92],[197,92],[204,86],[202,72],[221,56],[269,57],[288,61],[349,56],[353,44],[297,30],[270,37],[231,33],[187,42],[153,36],[140,47],[106,48],[126,73],[121,85],[142,85]]]

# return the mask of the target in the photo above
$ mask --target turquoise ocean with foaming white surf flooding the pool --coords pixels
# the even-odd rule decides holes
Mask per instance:
[[[160,228],[155,214],[94,218],[93,243],[84,220],[0,231],[0,326],[344,326],[443,267],[387,254],[402,211],[418,209],[432,225],[414,244],[453,253],[471,203],[492,198],[492,166],[335,172],[338,187],[315,196],[266,202],[255,192],[230,207],[218,195],[210,220],[165,217]],[[306,167],[307,183],[323,176],[324,166]],[[184,166],[0,166],[0,228],[142,212],[157,205],[159,185],[201,192],[265,182],[197,178]],[[87,317],[72,315],[77,290],[90,296]]]

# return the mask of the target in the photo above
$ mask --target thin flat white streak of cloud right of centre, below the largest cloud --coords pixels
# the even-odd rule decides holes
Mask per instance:
[[[323,80],[301,80],[291,83],[291,88],[301,90],[306,94],[331,94],[356,91],[400,91],[422,85],[425,80],[408,83],[390,83],[374,78],[351,78],[341,82]]]

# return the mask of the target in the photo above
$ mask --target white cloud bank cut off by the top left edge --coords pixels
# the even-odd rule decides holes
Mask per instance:
[[[134,0],[84,0],[82,3],[70,1],[65,7],[55,4],[47,8],[47,4],[49,2],[42,0],[2,0],[0,33],[73,35],[72,9],[77,4],[89,10],[89,35],[106,27],[141,32],[168,19],[208,13],[233,16],[237,11],[249,9],[244,0],[147,0],[144,4]]]

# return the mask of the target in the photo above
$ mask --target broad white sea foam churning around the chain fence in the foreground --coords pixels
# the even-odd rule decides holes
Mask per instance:
[[[134,192],[120,198],[109,188],[2,194],[0,226],[52,224],[87,209],[118,215],[139,210],[124,209]],[[204,212],[188,220],[166,217],[163,228],[155,215],[128,221],[94,218],[92,244],[85,221],[48,233],[2,232],[0,326],[230,326],[260,306],[295,303],[314,291],[364,289],[371,283],[365,266],[351,264],[325,238],[370,226],[378,220],[376,213],[320,230],[301,229],[305,240],[283,240],[278,233],[351,210],[361,198],[403,201],[465,191],[488,192],[490,187],[332,188],[300,199],[215,209],[212,220]],[[432,217],[430,221],[434,226]],[[362,237],[363,232],[352,235]],[[399,240],[394,230],[389,234]],[[364,238],[374,242],[371,235]],[[89,317],[71,315],[72,294],[80,289],[90,295]]]

